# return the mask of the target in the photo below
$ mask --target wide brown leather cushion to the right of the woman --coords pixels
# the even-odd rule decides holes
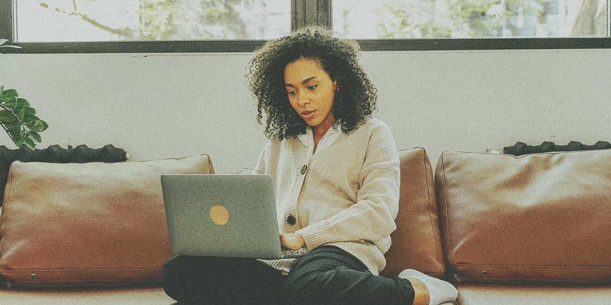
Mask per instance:
[[[444,253],[458,278],[611,281],[611,149],[520,157],[444,151]]]

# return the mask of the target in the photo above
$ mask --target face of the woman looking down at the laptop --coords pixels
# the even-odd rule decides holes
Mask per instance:
[[[323,70],[320,60],[302,57],[288,63],[284,83],[293,109],[312,129],[324,134],[335,121],[331,109],[337,82]]]

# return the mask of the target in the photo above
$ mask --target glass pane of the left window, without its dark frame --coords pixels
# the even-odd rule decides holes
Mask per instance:
[[[16,41],[263,40],[290,32],[284,0],[20,0]]]

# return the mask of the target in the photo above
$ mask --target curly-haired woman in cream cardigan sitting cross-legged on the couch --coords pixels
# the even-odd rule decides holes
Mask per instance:
[[[304,27],[268,41],[250,64],[257,120],[267,114],[255,173],[276,188],[280,244],[301,259],[175,256],[166,293],[194,304],[440,304],[452,284],[415,270],[378,276],[398,212],[400,169],[359,46]],[[409,178],[407,178],[409,179]]]

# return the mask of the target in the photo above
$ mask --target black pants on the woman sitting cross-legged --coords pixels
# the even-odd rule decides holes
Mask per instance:
[[[180,304],[411,305],[406,279],[375,276],[352,254],[320,246],[288,275],[256,259],[174,256],[163,268],[163,289]]]

